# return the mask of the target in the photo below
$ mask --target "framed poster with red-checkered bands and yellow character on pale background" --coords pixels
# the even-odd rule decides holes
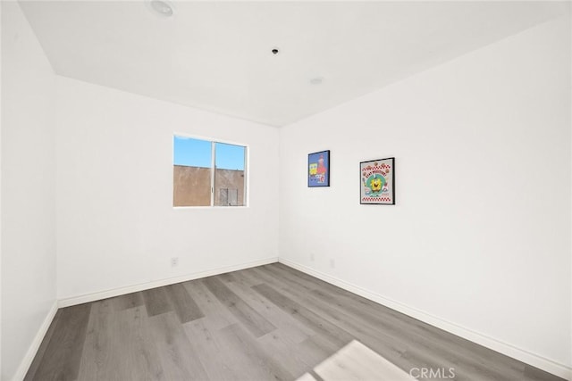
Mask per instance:
[[[359,163],[359,203],[395,205],[395,158]]]

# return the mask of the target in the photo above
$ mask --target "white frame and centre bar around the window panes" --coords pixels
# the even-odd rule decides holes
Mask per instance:
[[[248,209],[250,205],[250,192],[248,189],[250,188],[250,146],[244,143],[233,142],[231,140],[224,140],[224,139],[216,139],[214,137],[202,137],[198,135],[191,135],[188,133],[183,132],[173,132],[171,135],[171,195],[174,193],[174,181],[172,178],[174,177],[174,168],[175,168],[175,137],[189,137],[191,139],[203,140],[206,142],[211,143],[211,204],[210,205],[190,205],[190,206],[175,206],[173,205],[173,200],[171,199],[171,207],[172,209]],[[244,205],[237,205],[237,206],[229,206],[229,205],[214,205],[214,178],[215,178],[215,170],[216,170],[216,143],[221,143],[223,145],[239,145],[244,147],[245,154],[244,154]]]

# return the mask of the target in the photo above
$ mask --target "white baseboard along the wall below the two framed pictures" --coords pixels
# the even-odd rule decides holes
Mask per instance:
[[[540,356],[532,352],[528,352],[524,349],[517,348],[514,345],[504,343],[490,336],[480,334],[467,327],[459,326],[458,324],[452,323],[445,319],[441,319],[425,311],[417,310],[416,308],[410,307],[401,302],[393,301],[391,299],[384,297],[383,295],[375,294],[364,288],[343,281],[337,277],[332,277],[328,274],[324,274],[321,271],[317,271],[315,269],[308,268],[307,266],[300,265],[299,263],[296,263],[294,261],[280,258],[279,262],[285,264],[286,266],[290,266],[293,269],[298,269],[299,271],[302,271],[313,277],[322,279],[324,280],[324,282],[328,282],[334,286],[341,287],[344,290],[347,290],[351,293],[363,296],[366,299],[369,299],[373,302],[383,304],[384,306],[389,307],[395,311],[400,311],[412,318],[424,321],[425,323],[430,324],[434,327],[439,327],[445,331],[450,332],[451,334],[466,338],[467,340],[470,340],[476,344],[481,344],[487,348],[492,349],[493,351],[501,352],[502,354],[506,354],[507,356],[512,357],[513,359],[523,361],[526,364],[532,365],[533,367],[536,367],[538,369],[543,369],[558,377],[572,380],[572,368],[564,364],[560,364],[558,362],[546,359],[543,356]]]

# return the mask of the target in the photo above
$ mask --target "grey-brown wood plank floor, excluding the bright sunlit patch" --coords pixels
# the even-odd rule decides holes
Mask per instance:
[[[26,380],[294,380],[354,339],[407,373],[561,380],[280,263],[61,309]]]

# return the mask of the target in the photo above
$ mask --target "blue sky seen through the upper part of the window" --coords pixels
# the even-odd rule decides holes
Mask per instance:
[[[192,137],[173,137],[173,163],[188,167],[211,167],[211,142]],[[244,170],[245,147],[216,143],[216,168]]]

